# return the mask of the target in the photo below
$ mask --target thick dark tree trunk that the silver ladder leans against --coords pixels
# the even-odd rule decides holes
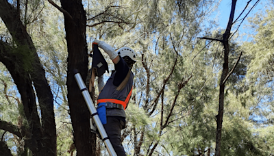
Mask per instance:
[[[66,42],[68,46],[68,100],[73,123],[77,155],[95,155],[96,135],[90,131],[90,112],[74,79],[73,70],[79,70],[86,80],[88,72],[88,49],[86,44],[86,12],[80,0],[61,0],[64,13]]]

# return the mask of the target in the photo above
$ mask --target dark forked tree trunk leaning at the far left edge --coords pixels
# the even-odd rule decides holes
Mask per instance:
[[[29,122],[18,137],[29,138],[25,142],[34,155],[56,155],[53,95],[45,78],[45,70],[40,64],[32,38],[20,20],[20,14],[6,0],[0,0],[0,17],[14,41],[13,45],[0,42],[0,62],[8,68],[14,79],[21,94],[25,118]],[[41,118],[37,112],[36,95]]]

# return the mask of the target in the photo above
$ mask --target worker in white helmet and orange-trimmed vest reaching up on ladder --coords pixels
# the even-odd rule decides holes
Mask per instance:
[[[125,128],[125,109],[132,95],[134,75],[131,71],[136,62],[134,50],[123,47],[117,52],[109,44],[95,40],[93,44],[103,49],[114,63],[114,72],[103,86],[103,75],[98,77],[99,96],[97,112],[117,155],[125,155],[121,142],[121,130]]]

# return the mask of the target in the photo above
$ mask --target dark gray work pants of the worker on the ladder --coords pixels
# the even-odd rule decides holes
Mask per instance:
[[[107,116],[107,123],[103,127],[108,134],[108,138],[110,138],[116,154],[118,156],[126,156],[121,142],[121,130],[125,128],[125,122],[115,118],[115,116]]]

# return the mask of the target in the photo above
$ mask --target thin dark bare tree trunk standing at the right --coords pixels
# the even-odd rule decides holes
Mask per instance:
[[[225,99],[225,79],[229,73],[229,66],[228,66],[228,57],[229,57],[229,36],[230,31],[233,24],[234,12],[236,7],[236,0],[232,0],[232,10],[230,12],[229,21],[227,24],[227,29],[225,30],[225,34],[223,34],[223,47],[224,47],[224,63],[223,63],[223,73],[221,75],[220,81],[220,90],[219,90],[219,111],[218,115],[216,116],[217,122],[217,129],[216,129],[216,148],[215,148],[215,155],[221,156],[221,136],[222,136],[222,126],[223,126],[223,104]]]

